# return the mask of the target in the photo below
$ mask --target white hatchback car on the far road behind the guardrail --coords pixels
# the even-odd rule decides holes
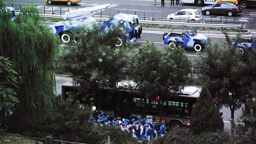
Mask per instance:
[[[202,20],[202,14],[197,9],[182,9],[169,14],[167,19],[175,20]]]

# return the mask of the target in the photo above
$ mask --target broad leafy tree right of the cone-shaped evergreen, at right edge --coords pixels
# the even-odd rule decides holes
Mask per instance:
[[[241,52],[239,48],[233,48],[228,33],[224,34],[227,45],[207,46],[197,66],[211,96],[218,98],[220,105],[229,107],[231,119],[234,119],[234,111],[250,97],[250,88],[255,81],[256,52],[248,49]]]

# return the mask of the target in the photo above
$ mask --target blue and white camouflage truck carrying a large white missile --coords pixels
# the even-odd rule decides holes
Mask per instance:
[[[49,27],[53,33],[60,36],[61,42],[69,43],[72,39],[76,42],[76,40],[71,37],[71,31],[78,32],[76,28],[82,25],[92,27],[92,23],[96,20],[91,15],[106,9],[109,6],[111,5],[104,4],[66,12],[62,17],[64,19],[70,18],[71,20],[61,21]],[[105,29],[107,29],[107,21],[104,23],[106,24]],[[116,14],[113,17],[113,20],[111,20],[111,25],[120,23],[122,24],[123,29],[128,33],[126,34],[126,37],[122,37],[122,40],[119,38],[120,43],[116,46],[122,46],[122,43],[127,41],[137,41],[137,39],[141,37],[142,27],[139,23],[139,17],[136,14]]]

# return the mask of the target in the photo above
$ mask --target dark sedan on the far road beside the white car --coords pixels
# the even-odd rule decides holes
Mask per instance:
[[[205,6],[202,8],[202,13],[206,15],[210,14],[227,14],[233,16],[242,12],[242,7],[232,2],[219,2],[211,6]]]

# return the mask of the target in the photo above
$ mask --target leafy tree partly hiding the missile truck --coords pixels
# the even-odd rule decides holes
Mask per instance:
[[[101,101],[99,94],[102,89],[116,89],[117,82],[124,78],[124,69],[128,62],[127,45],[117,47],[118,37],[124,36],[119,25],[104,29],[103,23],[93,23],[92,28],[80,27],[79,33],[73,33],[81,39],[75,47],[70,47],[61,61],[71,73],[71,77],[78,86],[76,98],[85,103],[87,95],[96,99],[96,107],[100,112]],[[128,44],[129,45],[129,44]]]

